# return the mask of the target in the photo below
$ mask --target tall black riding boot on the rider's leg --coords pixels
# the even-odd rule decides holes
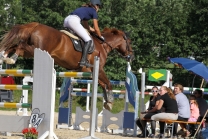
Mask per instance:
[[[91,44],[92,44],[92,40],[85,42],[84,48],[82,49],[82,58],[80,61],[80,67],[84,67],[84,66],[92,67],[93,66],[87,62],[87,54],[88,54],[88,50],[89,50]]]

